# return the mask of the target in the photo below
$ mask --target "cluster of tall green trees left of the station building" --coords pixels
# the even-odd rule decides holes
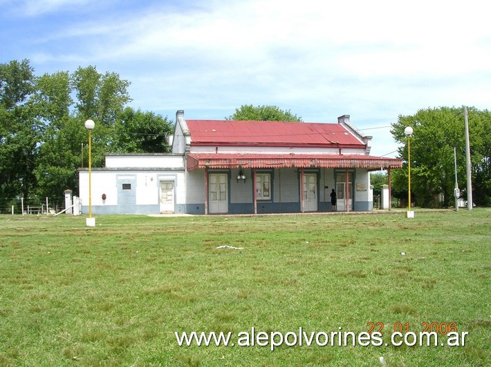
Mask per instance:
[[[0,197],[76,192],[88,164],[86,119],[95,121],[93,167],[106,152],[169,152],[174,122],[127,106],[129,86],[95,66],[37,76],[27,59],[0,63]]]

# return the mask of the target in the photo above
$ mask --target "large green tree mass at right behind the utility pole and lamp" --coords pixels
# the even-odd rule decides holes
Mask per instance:
[[[488,110],[469,109],[470,150],[474,203],[484,205],[491,198],[490,146],[491,114]],[[461,188],[465,182],[465,138],[462,108],[428,108],[414,116],[399,116],[392,123],[391,133],[403,144],[399,155],[404,168],[393,172],[393,188],[407,195],[406,126],[414,129],[411,136],[411,194],[420,206],[438,206],[443,194],[443,206],[453,204],[455,187],[454,147],[457,150],[457,175]]]

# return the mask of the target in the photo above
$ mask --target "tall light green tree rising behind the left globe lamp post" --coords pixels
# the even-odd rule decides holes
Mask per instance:
[[[66,188],[77,190],[77,168],[82,162],[82,150],[87,160],[86,119],[96,122],[92,139],[92,166],[104,165],[104,154],[113,139],[113,125],[124,104],[131,100],[127,93],[128,81],[115,73],[100,74],[95,67],[78,68],[72,75],[56,72],[37,79],[37,92],[33,97],[39,118],[48,127],[39,146],[39,161],[35,175],[39,182],[37,193],[57,196]],[[75,91],[75,110],[71,94]],[[85,148],[82,148],[85,145]]]

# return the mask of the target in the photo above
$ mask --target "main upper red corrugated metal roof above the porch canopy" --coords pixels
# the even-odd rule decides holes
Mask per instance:
[[[186,123],[192,146],[364,147],[340,123],[232,120],[186,120]]]

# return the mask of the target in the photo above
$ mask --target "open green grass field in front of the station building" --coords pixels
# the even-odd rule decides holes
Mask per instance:
[[[491,210],[103,216],[95,228],[84,217],[3,215],[0,233],[1,366],[491,364]],[[178,346],[174,335],[383,323],[385,344],[398,323],[419,332],[425,322],[455,323],[465,346],[271,351]]]

